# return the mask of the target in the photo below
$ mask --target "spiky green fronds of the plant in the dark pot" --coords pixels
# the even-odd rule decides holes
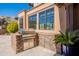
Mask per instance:
[[[65,33],[60,32],[59,35],[56,35],[54,41],[56,44],[73,45],[76,41],[78,41],[78,37],[78,31],[65,31]]]

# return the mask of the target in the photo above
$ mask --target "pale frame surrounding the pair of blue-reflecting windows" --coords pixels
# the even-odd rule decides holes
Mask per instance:
[[[47,8],[44,8],[44,9],[35,11],[35,12],[31,13],[31,14],[28,14],[28,17],[31,16],[31,15],[34,15],[34,14],[37,15],[37,17],[36,17],[36,29],[34,29],[34,31],[36,31],[36,32],[50,32],[50,33],[51,33],[51,32],[54,32],[54,28],[55,28],[55,24],[54,24],[54,23],[55,23],[55,22],[53,23],[53,29],[52,29],[52,30],[46,30],[46,29],[41,30],[41,29],[39,28],[39,26],[40,26],[40,23],[39,23],[39,13],[42,12],[42,11],[48,10],[48,9],[50,9],[50,8],[54,8],[54,4],[48,6]],[[55,11],[55,10],[54,10],[54,11]],[[55,17],[55,12],[54,12],[54,17]],[[54,21],[55,21],[55,18],[54,18]],[[37,23],[37,22],[38,22],[38,23]],[[28,30],[30,30],[30,28],[29,28],[29,18],[28,18]]]

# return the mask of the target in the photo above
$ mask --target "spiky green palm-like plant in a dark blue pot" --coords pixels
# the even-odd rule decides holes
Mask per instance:
[[[60,34],[56,35],[54,41],[56,44],[61,44],[61,53],[65,56],[75,55],[76,50],[75,43],[78,41],[78,31],[60,31]]]

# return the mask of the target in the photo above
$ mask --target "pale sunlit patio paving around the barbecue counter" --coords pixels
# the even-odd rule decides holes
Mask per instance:
[[[52,52],[43,47],[35,47],[26,51],[15,54],[11,48],[10,36],[0,35],[0,56],[53,56],[55,52]]]

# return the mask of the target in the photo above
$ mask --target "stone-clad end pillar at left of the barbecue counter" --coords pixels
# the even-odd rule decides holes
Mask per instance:
[[[11,45],[15,53],[23,51],[22,35],[19,33],[11,34]]]

